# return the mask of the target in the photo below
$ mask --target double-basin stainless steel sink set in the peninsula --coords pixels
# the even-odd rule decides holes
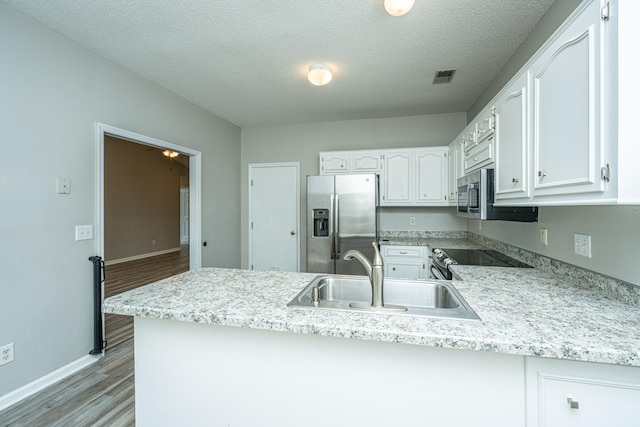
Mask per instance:
[[[448,281],[384,279],[384,307],[371,307],[367,276],[315,277],[289,307],[480,320]]]

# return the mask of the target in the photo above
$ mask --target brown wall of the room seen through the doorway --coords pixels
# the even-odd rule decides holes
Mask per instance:
[[[188,159],[185,160],[188,164]],[[105,136],[104,259],[180,249],[180,180],[189,168],[162,150]]]

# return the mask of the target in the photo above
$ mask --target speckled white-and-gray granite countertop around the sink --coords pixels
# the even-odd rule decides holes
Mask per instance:
[[[640,366],[640,310],[532,268],[454,266],[481,321],[289,308],[316,276],[203,268],[104,302],[107,313]]]

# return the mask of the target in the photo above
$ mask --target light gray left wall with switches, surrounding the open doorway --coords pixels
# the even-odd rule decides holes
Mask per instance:
[[[96,225],[96,122],[203,153],[203,264],[230,267],[240,129],[2,2],[0,57],[0,345],[15,343],[3,396],[92,349],[96,241],[74,241],[74,227]],[[56,194],[57,177],[71,194]]]

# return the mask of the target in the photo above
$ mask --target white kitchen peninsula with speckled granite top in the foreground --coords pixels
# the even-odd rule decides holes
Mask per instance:
[[[637,307],[538,269],[456,273],[481,321],[289,308],[315,274],[218,268],[104,309],[135,316],[140,426],[534,425],[546,361],[622,377],[637,398]]]

